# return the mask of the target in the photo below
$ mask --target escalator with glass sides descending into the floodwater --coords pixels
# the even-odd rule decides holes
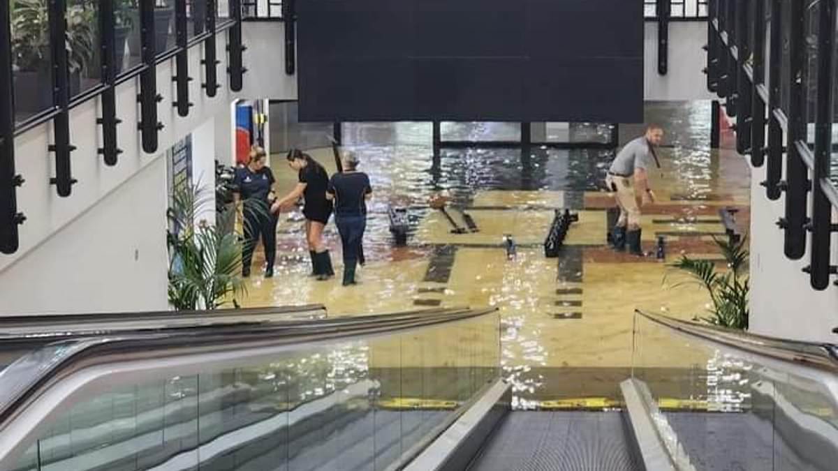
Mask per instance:
[[[503,377],[494,309],[312,312],[194,328],[111,325],[18,350],[0,367],[0,470],[838,463],[831,345],[636,313],[631,373],[609,385],[613,398],[513,411],[520,391]],[[3,334],[22,342],[18,328],[0,326],[0,344]]]

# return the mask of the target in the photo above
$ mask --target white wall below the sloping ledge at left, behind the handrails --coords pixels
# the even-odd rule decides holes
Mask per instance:
[[[0,272],[0,315],[167,309],[167,204],[158,158]]]

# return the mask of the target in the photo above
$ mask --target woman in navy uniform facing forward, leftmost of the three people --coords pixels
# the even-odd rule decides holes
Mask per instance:
[[[251,261],[256,243],[261,235],[265,247],[265,277],[273,277],[273,265],[277,258],[277,218],[269,208],[273,199],[273,178],[271,168],[265,165],[265,149],[254,146],[246,166],[235,169],[233,183],[236,185],[235,201],[242,204],[242,225],[244,226],[244,248],[241,253],[241,275],[251,276]]]

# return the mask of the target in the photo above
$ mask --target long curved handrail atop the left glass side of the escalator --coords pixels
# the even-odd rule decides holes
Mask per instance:
[[[0,429],[14,420],[25,406],[43,391],[75,371],[115,361],[147,360],[176,355],[256,349],[265,346],[308,344],[325,340],[359,338],[376,334],[397,334],[478,318],[497,308],[450,308],[396,313],[375,318],[323,319],[287,323],[246,323],[230,325],[213,332],[203,330],[120,334],[66,340],[24,355],[0,371],[0,384],[13,387],[0,390]],[[53,350],[52,355],[49,349]],[[46,352],[44,354],[44,351]],[[49,361],[42,360],[44,355]],[[37,365],[37,367],[34,367]],[[6,380],[11,379],[11,380]]]

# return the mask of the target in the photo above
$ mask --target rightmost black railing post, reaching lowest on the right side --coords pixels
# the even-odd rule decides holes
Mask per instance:
[[[835,46],[835,0],[821,1],[819,13],[810,283],[815,289],[824,290],[830,285],[832,269],[830,263],[832,205],[820,188],[820,181],[829,178],[832,154],[832,106],[834,101],[832,77],[835,71],[832,57]]]

